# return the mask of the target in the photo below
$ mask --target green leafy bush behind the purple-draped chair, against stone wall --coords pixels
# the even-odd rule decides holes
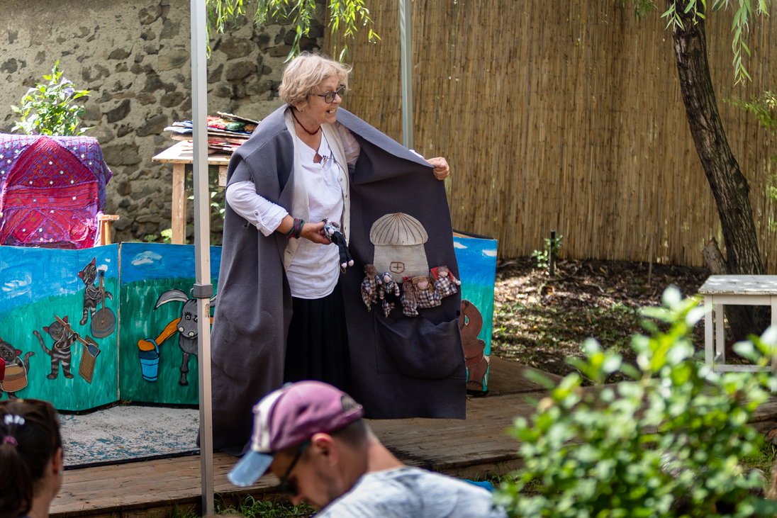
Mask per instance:
[[[62,77],[59,61],[54,63],[51,75],[44,75],[48,84],[36,83],[22,98],[21,107],[11,109],[22,116],[13,130],[28,135],[80,135],[89,128],[78,128],[84,114],[76,99],[89,96],[89,90],[75,90],[73,83]]]

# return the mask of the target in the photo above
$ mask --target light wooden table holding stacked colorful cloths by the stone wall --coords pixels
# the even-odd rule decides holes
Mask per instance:
[[[229,158],[232,158],[232,155],[207,155],[207,165],[218,165],[218,185],[221,187],[227,186]],[[183,245],[186,242],[186,192],[183,183],[186,178],[186,164],[194,163],[192,144],[179,141],[156,155],[152,161],[172,164],[171,241],[175,245]]]

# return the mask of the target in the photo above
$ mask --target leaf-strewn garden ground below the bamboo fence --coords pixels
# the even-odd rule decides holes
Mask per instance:
[[[654,264],[648,285],[647,263],[562,260],[551,280],[529,258],[500,261],[492,354],[563,376],[574,370],[566,358],[583,356],[584,340],[593,337],[631,363],[631,337],[643,332],[639,308],[660,305],[670,285],[691,296],[707,276],[706,268]],[[694,329],[693,343],[701,353],[703,322]],[[608,381],[618,379],[616,374]]]

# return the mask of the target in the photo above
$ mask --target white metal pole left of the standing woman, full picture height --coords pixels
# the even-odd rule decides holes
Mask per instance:
[[[211,415],[211,193],[207,186],[207,33],[205,0],[191,0],[192,122],[194,138],[193,297],[197,298],[197,371],[200,385],[200,475],[202,513],[213,506],[213,420]]]

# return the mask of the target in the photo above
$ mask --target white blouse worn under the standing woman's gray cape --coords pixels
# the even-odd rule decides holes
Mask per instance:
[[[336,123],[340,140],[346,152],[349,165],[359,158],[361,146],[347,127]],[[310,221],[324,218],[340,221],[343,215],[343,189],[337,179],[339,168],[333,158],[333,151],[322,134],[318,154],[323,159],[315,163],[316,150],[310,148],[294,135],[294,145],[300,156],[300,169],[308,191]],[[227,203],[236,213],[256,225],[263,235],[269,236],[288,214],[283,207],[270,202],[256,193],[253,182],[238,182],[227,188]],[[319,245],[307,239],[300,239],[294,259],[286,270],[291,296],[317,299],[331,294],[340,277],[340,251],[336,245]]]

